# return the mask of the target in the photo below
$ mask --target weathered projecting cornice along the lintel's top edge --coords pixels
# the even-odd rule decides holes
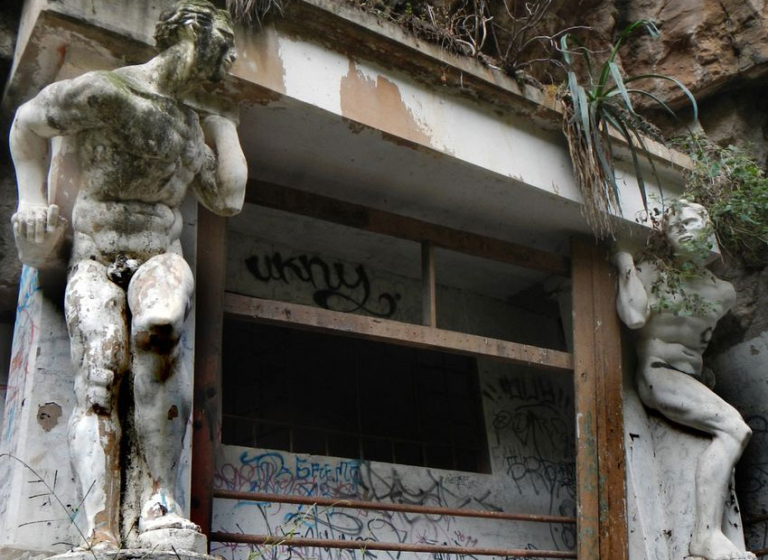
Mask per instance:
[[[46,57],[48,63],[41,60],[41,51],[45,50],[46,42],[50,42],[50,37],[46,41],[46,27],[50,30],[52,26],[59,26],[76,32],[86,41],[92,42],[95,49],[108,51],[102,52],[102,55],[124,63],[148,58],[153,52],[153,25],[163,5],[150,5],[148,2],[138,4],[144,5],[133,6],[131,16],[126,17],[125,6],[116,0],[100,0],[98,3],[86,3],[85,0],[30,0],[25,6],[14,71],[8,82],[8,95],[4,102],[6,114],[8,109],[52,81],[52,71],[55,72],[55,68],[51,68],[55,67],[52,60],[63,59],[65,56],[66,51],[61,51],[61,44],[64,44],[66,37],[59,35],[60,44],[53,47],[59,57],[49,55]],[[395,23],[384,21],[351,5],[333,0],[292,0],[286,5],[284,15],[283,18],[274,18],[269,25],[320,42],[326,48],[356,59],[368,59],[385,68],[396,68],[425,85],[439,88],[441,92],[475,98],[492,107],[501,108],[506,113],[528,117],[538,126],[549,130],[561,126],[562,110],[554,90],[521,85],[501,70],[470,57],[445,51],[434,43],[407,33]],[[258,34],[262,31],[248,30],[242,33]],[[61,63],[62,60],[59,61]],[[619,145],[624,144],[621,135],[614,136]],[[648,153],[657,162],[678,170],[688,169],[692,165],[686,155],[664,145],[650,139],[646,140],[646,145]]]

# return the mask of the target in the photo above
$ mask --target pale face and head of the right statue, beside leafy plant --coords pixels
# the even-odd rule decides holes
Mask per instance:
[[[712,223],[707,209],[696,202],[680,199],[664,213],[664,235],[672,252],[682,257],[706,257],[712,248],[709,241]]]

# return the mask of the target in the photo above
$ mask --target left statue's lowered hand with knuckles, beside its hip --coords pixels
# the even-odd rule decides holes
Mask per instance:
[[[56,204],[20,207],[11,218],[19,259],[27,266],[52,265],[67,231],[67,220]]]

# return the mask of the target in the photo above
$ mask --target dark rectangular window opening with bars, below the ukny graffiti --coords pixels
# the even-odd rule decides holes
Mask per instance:
[[[224,323],[223,443],[489,472],[476,360]]]

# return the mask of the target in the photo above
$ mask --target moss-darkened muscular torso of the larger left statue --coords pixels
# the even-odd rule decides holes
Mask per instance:
[[[120,70],[95,74],[100,79],[91,90],[77,92],[100,117],[77,134],[81,185],[72,210],[72,262],[108,265],[119,254],[145,261],[177,251],[179,205],[210,154],[198,116]]]

